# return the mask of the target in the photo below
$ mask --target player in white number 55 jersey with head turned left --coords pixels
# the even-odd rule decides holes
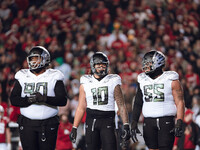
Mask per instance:
[[[137,127],[142,111],[144,116],[143,137],[150,150],[171,150],[174,135],[182,134],[184,116],[183,89],[179,75],[163,71],[165,56],[159,51],[147,52],[142,60],[143,73],[138,75],[138,90],[133,107],[131,133],[137,141]],[[174,126],[174,117],[177,122]]]

